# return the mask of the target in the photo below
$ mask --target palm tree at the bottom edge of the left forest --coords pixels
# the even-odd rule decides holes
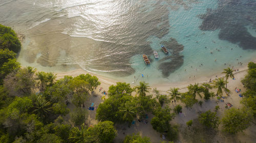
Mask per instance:
[[[81,129],[79,129],[78,127],[74,127],[71,130],[69,139],[72,140],[72,142],[74,143],[80,143],[80,142],[84,142],[84,139],[86,138],[86,128],[84,128],[84,123],[82,123],[81,125]]]

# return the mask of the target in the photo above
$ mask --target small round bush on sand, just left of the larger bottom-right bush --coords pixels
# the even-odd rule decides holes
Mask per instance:
[[[201,113],[198,117],[198,120],[203,126],[212,129],[217,129],[220,124],[217,113],[211,112],[210,110]]]

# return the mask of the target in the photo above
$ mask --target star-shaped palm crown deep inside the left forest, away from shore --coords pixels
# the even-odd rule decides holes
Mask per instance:
[[[41,119],[44,119],[52,111],[51,102],[46,101],[41,95],[37,97],[34,107],[33,112],[36,112]]]

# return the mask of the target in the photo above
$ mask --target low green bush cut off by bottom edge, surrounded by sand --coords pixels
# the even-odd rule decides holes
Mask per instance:
[[[139,134],[132,134],[132,135],[126,135],[123,143],[151,143],[150,138],[149,137],[142,137]]]

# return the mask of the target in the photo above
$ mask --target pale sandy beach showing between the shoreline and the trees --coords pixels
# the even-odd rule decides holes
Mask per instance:
[[[256,60],[254,60],[253,62],[255,62]],[[191,83],[203,83],[203,82],[209,82],[209,79],[211,78],[211,81],[219,78],[219,77],[224,77],[224,74],[221,73],[222,71],[220,71],[219,73],[216,73],[210,77],[200,77],[200,78],[195,78],[194,80],[189,80],[186,82],[181,82],[181,83],[169,83],[169,84],[157,84],[152,86],[151,88],[157,88],[158,90],[160,90],[161,94],[167,94],[167,91],[172,88],[172,87],[176,87],[179,88],[180,92],[186,92],[187,89],[186,87]],[[78,70],[74,70],[74,71],[70,71],[70,72],[63,72],[63,73],[57,73],[57,79],[62,78],[65,75],[70,75],[70,76],[77,76],[79,74],[86,74],[88,72],[82,70],[82,69],[78,69]],[[247,73],[247,65],[244,64],[243,67],[239,68],[239,71],[234,72],[234,78],[235,79],[228,79],[228,84],[227,84],[227,88],[230,90],[230,96],[228,98],[223,99],[224,102],[220,102],[216,97],[214,98],[210,98],[210,100],[208,101],[204,101],[204,99],[200,99],[198,98],[198,100],[203,101],[202,107],[200,107],[199,104],[195,104],[193,106],[193,108],[185,108],[185,105],[183,103],[181,103],[180,101],[177,102],[176,104],[180,104],[183,106],[182,109],[182,113],[177,115],[175,117],[175,119],[172,121],[173,125],[178,125],[179,126],[179,141],[180,142],[188,142],[186,140],[186,137],[183,136],[183,133],[187,131],[187,127],[186,127],[186,122],[189,120],[196,120],[198,118],[198,113],[199,112],[203,112],[203,111],[207,111],[207,110],[211,110],[214,111],[214,108],[216,105],[220,106],[220,109],[218,111],[218,116],[220,117],[220,119],[223,117],[224,111],[226,110],[225,108],[225,103],[230,102],[233,105],[233,108],[240,108],[242,105],[240,104],[240,101],[242,99],[242,97],[239,97],[238,93],[236,91],[234,91],[235,88],[239,88],[241,89],[242,92],[245,91],[245,89],[243,88],[243,85],[241,83],[241,80],[243,79],[243,77],[246,75]],[[99,75],[96,75],[99,78],[99,81],[101,82],[101,85],[96,89],[96,92],[94,92],[94,95],[90,97],[89,101],[87,102],[87,105],[90,106],[90,104],[93,102],[95,106],[98,106],[101,102],[103,102],[102,100],[102,96],[103,94],[101,93],[102,91],[108,91],[110,85],[115,84],[118,81],[115,81],[113,79],[109,79],[109,78],[105,78],[105,77],[101,77]],[[217,76],[217,77],[216,77]],[[133,87],[133,85],[132,85]],[[102,88],[102,91],[99,92],[99,89]],[[213,89],[212,91],[214,91],[216,93],[216,89]],[[134,94],[135,95],[135,92]],[[170,103],[169,106],[171,108],[173,108],[176,104],[172,104]],[[95,120],[95,115],[96,115],[96,111],[90,111],[89,112],[89,124],[96,124],[97,121]],[[165,140],[163,138],[161,138],[161,134],[156,132],[151,124],[150,121],[153,118],[152,115],[148,115],[148,123],[140,123],[138,121],[136,121],[135,125],[132,125],[132,127],[128,127],[127,125],[117,125],[117,130],[118,130],[118,136],[115,138],[115,142],[120,142],[123,140],[123,138],[125,137],[125,135],[127,134],[132,134],[132,133],[139,133],[142,136],[148,136],[151,138],[152,142],[159,142],[159,140]],[[253,124],[251,127],[249,127],[247,130],[245,130],[244,134],[238,134],[237,136],[223,136],[221,134],[221,126],[219,126],[219,131],[217,132],[217,134],[212,136],[212,141],[222,141],[222,142],[239,142],[239,140],[241,141],[246,141],[246,142],[253,142],[256,139],[255,136],[255,131],[253,130],[256,126]]]

